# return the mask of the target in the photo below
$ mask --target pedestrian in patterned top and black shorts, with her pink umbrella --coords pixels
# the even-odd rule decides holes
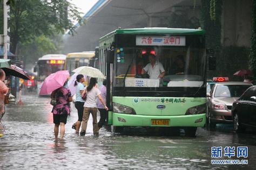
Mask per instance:
[[[51,104],[53,105],[53,123],[55,141],[58,141],[58,133],[60,126],[60,140],[63,140],[65,134],[65,124],[68,115],[70,115],[70,102],[72,101],[71,93],[65,84],[68,82],[69,71],[61,70],[56,73],[50,74],[45,78],[42,88],[40,90],[41,95],[47,95],[51,93]]]

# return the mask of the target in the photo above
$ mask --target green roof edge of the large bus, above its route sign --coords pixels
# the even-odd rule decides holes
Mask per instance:
[[[146,27],[139,29],[118,29],[106,34],[100,39],[112,36],[112,34],[205,34],[201,29],[172,29],[167,27]]]

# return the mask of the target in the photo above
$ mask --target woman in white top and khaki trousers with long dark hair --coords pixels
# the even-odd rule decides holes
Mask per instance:
[[[99,98],[99,101],[102,102],[104,108],[107,108],[106,103],[104,103],[102,96],[100,96],[100,90],[96,88],[97,80],[96,78],[91,78],[89,86],[86,88],[86,101],[84,103],[84,114],[82,121],[82,130],[80,132],[80,136],[84,136],[86,133],[87,122],[90,114],[92,114],[92,125],[93,125],[93,134],[99,134],[98,122],[97,122],[97,104],[96,99]]]

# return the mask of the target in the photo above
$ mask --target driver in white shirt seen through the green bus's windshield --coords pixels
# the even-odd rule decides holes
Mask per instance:
[[[149,55],[150,63],[148,63],[143,69],[142,74],[149,74],[150,79],[160,79],[164,76],[165,70],[164,66],[157,62],[156,55],[150,54]]]

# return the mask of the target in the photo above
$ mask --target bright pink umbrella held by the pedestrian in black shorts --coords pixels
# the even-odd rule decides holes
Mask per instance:
[[[62,87],[69,77],[68,70],[60,70],[45,78],[39,95],[49,95],[52,91]]]

